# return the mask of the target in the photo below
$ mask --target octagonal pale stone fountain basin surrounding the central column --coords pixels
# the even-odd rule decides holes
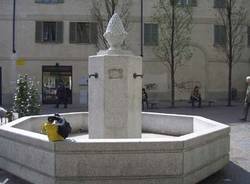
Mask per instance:
[[[47,116],[1,126],[1,169],[36,184],[191,184],[229,161],[230,128],[199,116],[142,113],[140,139],[89,139],[88,113],[66,113],[61,142],[39,133]]]

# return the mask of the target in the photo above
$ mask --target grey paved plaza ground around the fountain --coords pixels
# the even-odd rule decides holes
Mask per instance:
[[[190,104],[177,103],[176,108],[150,109],[153,112],[170,114],[190,114],[203,116],[231,126],[230,163],[221,171],[215,173],[199,184],[249,184],[250,183],[250,121],[240,122],[242,105],[240,103],[227,107],[225,103],[216,103],[212,107],[191,108]],[[70,107],[56,109],[54,106],[43,106],[42,114],[55,112],[80,112],[86,107]],[[249,116],[250,117],[250,116]],[[250,118],[249,118],[250,119]],[[6,178],[7,184],[29,184],[5,171],[0,170],[0,184]]]

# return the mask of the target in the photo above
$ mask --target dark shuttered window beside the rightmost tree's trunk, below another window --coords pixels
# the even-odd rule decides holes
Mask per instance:
[[[223,25],[214,26],[214,45],[225,46],[227,42],[226,28]]]

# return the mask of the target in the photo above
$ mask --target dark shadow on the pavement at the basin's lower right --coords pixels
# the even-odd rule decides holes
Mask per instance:
[[[222,170],[198,184],[249,184],[250,173],[232,161]]]

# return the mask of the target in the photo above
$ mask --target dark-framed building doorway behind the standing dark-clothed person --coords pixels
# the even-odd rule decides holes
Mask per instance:
[[[72,104],[72,66],[42,67],[42,102],[56,104],[56,90],[60,84],[67,89],[68,103]]]

